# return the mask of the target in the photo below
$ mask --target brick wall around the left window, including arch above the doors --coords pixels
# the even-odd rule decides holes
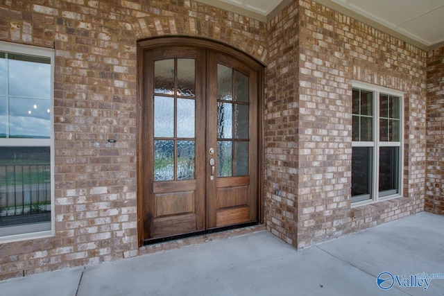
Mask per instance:
[[[139,254],[137,40],[205,37],[264,62],[265,32],[191,0],[1,1],[0,40],[56,53],[56,236],[0,245],[0,279]]]

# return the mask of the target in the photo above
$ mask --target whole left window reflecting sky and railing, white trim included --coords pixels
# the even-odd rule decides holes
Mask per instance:
[[[0,242],[52,234],[53,64],[0,42]]]

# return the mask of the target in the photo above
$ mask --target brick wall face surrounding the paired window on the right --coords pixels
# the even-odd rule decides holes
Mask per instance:
[[[311,167],[299,189],[303,247],[422,211],[427,54],[315,2],[301,0],[300,6],[300,105],[307,105],[300,123],[307,149],[300,155]],[[404,92],[407,124],[404,198],[350,209],[352,80]]]

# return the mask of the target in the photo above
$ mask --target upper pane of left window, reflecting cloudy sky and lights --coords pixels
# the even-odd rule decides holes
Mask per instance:
[[[51,59],[0,53],[0,137],[51,136]]]

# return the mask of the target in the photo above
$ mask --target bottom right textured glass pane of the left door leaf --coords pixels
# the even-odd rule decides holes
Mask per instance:
[[[194,179],[195,142],[178,141],[178,180]]]

